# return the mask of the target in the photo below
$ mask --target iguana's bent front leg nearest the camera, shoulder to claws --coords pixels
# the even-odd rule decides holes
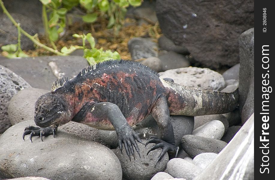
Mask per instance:
[[[72,121],[84,123],[97,129],[104,129],[109,126],[108,122],[111,122],[111,126],[115,128],[118,136],[118,146],[121,153],[122,144],[124,144],[124,148],[129,158],[130,154],[134,156],[133,146],[139,154],[139,147],[136,140],[139,143],[142,143],[142,141],[127,123],[127,120],[116,104],[110,102],[100,102],[95,104],[87,103],[82,107],[79,113],[76,114]]]

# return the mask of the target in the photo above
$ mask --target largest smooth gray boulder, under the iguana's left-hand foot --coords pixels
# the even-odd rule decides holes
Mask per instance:
[[[121,165],[107,147],[59,131],[53,138],[22,140],[22,132],[33,121],[17,123],[0,137],[0,172],[10,178],[43,176],[48,179],[119,179]],[[11,145],[12,144],[12,145]],[[56,169],[58,167],[58,170]]]

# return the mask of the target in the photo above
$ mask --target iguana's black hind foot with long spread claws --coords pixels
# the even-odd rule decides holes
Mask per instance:
[[[147,152],[147,155],[149,154],[149,152],[151,152],[151,151],[153,151],[155,149],[162,148],[162,151],[161,151],[159,157],[157,158],[155,167],[157,165],[157,162],[159,162],[163,158],[163,156],[165,155],[166,152],[168,152],[168,151],[176,151],[176,157],[178,155],[179,147],[176,147],[173,144],[167,143],[166,141],[161,140],[158,137],[151,136],[149,138],[149,140],[146,142],[145,146],[147,146],[149,143],[156,143],[156,145],[154,145],[154,146],[151,147],[151,149]]]

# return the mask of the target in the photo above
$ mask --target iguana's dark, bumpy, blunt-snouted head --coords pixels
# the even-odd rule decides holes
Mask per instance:
[[[58,94],[48,92],[36,101],[34,122],[41,128],[50,125],[65,124],[71,120],[71,112],[67,108],[64,98]]]

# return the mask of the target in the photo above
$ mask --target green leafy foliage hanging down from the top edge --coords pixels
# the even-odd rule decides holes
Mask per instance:
[[[55,41],[64,32],[66,26],[66,13],[73,7],[80,5],[86,10],[81,16],[83,22],[93,23],[98,16],[109,17],[107,28],[114,28],[115,34],[123,25],[126,7],[129,5],[139,6],[142,0],[40,0],[43,4],[43,24],[46,37],[54,49]],[[49,17],[49,18],[48,18]]]

